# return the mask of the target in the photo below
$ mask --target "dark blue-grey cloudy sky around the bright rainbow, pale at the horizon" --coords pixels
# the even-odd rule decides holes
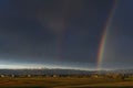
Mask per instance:
[[[96,66],[104,24],[114,0],[0,0],[0,66]],[[103,68],[131,68],[133,1],[117,0]]]

